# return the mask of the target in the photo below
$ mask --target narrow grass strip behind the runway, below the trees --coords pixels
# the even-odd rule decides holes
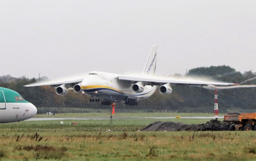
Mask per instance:
[[[109,117],[110,113],[56,113],[55,115],[37,114],[35,117]],[[164,112],[138,112],[115,113],[115,117],[171,117],[171,116],[214,116],[214,113],[164,113]],[[220,114],[219,116],[224,116]]]

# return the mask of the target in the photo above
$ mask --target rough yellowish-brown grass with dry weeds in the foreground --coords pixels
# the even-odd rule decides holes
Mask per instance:
[[[1,135],[2,160],[253,160],[256,157],[254,131],[37,134],[38,139],[35,133]]]

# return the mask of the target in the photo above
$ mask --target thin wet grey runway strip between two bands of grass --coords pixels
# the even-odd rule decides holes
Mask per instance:
[[[184,116],[182,119],[214,119],[214,116]],[[224,116],[219,116],[219,119],[224,118]],[[110,119],[110,117],[39,117],[30,118],[26,121],[50,121],[50,120],[102,120]],[[176,117],[112,117],[112,119],[176,119]]]

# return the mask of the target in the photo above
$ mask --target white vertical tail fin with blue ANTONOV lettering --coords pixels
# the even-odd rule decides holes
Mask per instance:
[[[142,74],[154,75],[156,71],[157,45],[153,45]]]

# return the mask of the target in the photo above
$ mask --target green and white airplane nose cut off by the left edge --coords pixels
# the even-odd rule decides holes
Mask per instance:
[[[18,92],[0,87],[0,123],[30,119],[36,113],[36,107]]]

